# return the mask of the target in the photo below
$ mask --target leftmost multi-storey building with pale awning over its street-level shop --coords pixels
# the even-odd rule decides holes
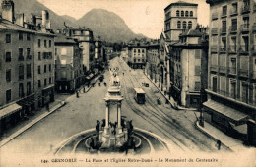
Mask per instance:
[[[34,31],[0,19],[1,132],[34,108],[33,38]]]

